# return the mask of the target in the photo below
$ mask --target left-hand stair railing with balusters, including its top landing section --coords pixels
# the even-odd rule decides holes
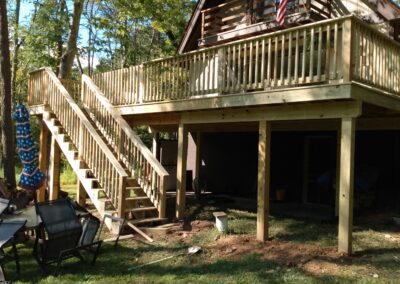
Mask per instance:
[[[118,211],[129,176],[50,68],[29,75],[29,105],[48,105]],[[119,212],[121,213],[121,212]]]

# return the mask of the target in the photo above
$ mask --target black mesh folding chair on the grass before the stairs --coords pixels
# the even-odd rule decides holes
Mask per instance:
[[[56,263],[56,272],[65,259],[77,257],[83,260],[81,249],[94,254],[95,263],[102,241],[95,241],[99,220],[87,215],[80,221],[70,201],[58,199],[36,204],[36,212],[41,223],[36,230],[34,255],[39,265],[46,271],[46,266]]]

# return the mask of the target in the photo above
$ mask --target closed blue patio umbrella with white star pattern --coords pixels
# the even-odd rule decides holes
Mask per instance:
[[[32,140],[29,112],[23,104],[17,104],[13,113],[17,151],[23,169],[18,185],[24,189],[36,190],[42,186],[46,176],[38,168],[38,149]]]

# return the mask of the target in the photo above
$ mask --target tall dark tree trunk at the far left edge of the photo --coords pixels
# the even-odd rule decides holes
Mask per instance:
[[[0,1],[0,95],[1,95],[1,130],[3,144],[4,177],[11,190],[16,188],[15,161],[14,161],[14,133],[11,119],[11,62],[10,43],[8,38],[7,1]]]

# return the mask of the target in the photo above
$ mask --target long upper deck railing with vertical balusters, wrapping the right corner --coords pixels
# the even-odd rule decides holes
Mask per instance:
[[[114,105],[352,80],[399,93],[399,46],[346,16],[97,74],[93,81]]]

